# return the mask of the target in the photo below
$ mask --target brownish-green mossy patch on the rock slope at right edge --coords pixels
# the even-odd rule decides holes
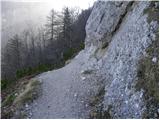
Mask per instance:
[[[144,102],[146,110],[144,118],[158,118],[159,106],[159,51],[158,37],[146,50],[147,56],[139,61],[138,81],[136,89],[144,90]],[[157,60],[154,62],[153,58]]]

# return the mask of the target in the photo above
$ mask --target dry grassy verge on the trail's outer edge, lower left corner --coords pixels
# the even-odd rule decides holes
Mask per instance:
[[[24,118],[25,113],[22,109],[26,103],[32,102],[36,99],[40,91],[40,82],[36,79],[23,78],[16,82],[14,86],[16,89],[11,88],[12,93],[4,98],[2,101],[2,118]],[[12,85],[13,86],[13,85]],[[15,93],[17,95],[15,95]]]

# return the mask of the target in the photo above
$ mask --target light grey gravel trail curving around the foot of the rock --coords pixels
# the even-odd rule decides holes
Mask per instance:
[[[31,105],[31,118],[88,118],[85,94],[89,86],[80,77],[83,61],[73,59],[65,67],[43,73],[42,96]]]

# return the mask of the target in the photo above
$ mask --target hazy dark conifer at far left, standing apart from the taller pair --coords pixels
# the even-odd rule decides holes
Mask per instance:
[[[16,71],[21,68],[22,57],[21,57],[22,43],[20,37],[16,34],[11,38],[5,48],[3,54],[3,65],[5,79],[16,77]],[[9,75],[9,76],[8,76]],[[3,77],[2,76],[2,77]]]

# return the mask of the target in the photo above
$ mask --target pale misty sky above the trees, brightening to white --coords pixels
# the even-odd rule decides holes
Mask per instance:
[[[96,0],[1,0],[2,48],[14,34],[27,27],[41,26],[54,8],[61,11],[64,6],[87,9]]]

